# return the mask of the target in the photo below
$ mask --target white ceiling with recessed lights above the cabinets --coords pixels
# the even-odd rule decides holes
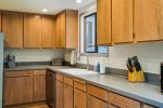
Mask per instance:
[[[57,14],[64,9],[79,10],[96,0],[83,0],[77,4],[76,0],[0,0],[0,10],[42,13],[42,9],[48,9],[45,14]]]

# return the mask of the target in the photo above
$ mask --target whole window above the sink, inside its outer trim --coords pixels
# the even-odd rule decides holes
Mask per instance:
[[[97,45],[97,13],[83,15],[80,17],[80,51],[83,53],[108,54],[108,46]]]

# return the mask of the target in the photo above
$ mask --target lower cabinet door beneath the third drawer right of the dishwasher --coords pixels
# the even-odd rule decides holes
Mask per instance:
[[[74,108],[86,108],[86,93],[74,89]]]

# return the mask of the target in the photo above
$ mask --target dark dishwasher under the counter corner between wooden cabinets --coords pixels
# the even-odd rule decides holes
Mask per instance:
[[[55,73],[51,70],[46,72],[46,103],[50,108],[54,108],[55,93]]]

